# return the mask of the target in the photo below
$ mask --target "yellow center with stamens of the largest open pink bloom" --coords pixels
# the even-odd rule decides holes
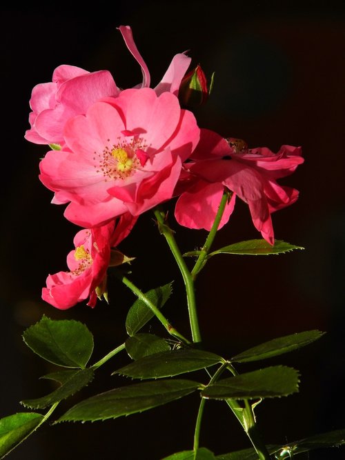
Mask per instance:
[[[107,139],[110,142],[110,139]],[[131,140],[119,140],[110,146],[105,146],[103,152],[94,152],[97,172],[103,174],[104,180],[126,179],[136,170],[145,166],[148,154],[144,139],[133,136]]]

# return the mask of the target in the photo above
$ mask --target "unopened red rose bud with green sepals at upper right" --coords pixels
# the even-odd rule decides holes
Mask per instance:
[[[207,85],[204,70],[198,65],[194,70],[188,72],[181,81],[179,87],[179,100],[182,105],[197,107],[204,104],[213,87],[214,72],[211,76],[210,85]]]

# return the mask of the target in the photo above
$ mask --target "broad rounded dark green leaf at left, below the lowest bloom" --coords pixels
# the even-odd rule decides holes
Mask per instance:
[[[31,350],[46,361],[66,368],[85,368],[93,350],[93,337],[79,321],[55,321],[43,316],[23,333]]]

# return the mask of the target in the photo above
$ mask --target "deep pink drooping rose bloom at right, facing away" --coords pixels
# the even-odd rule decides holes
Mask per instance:
[[[201,139],[190,162],[184,164],[175,217],[188,228],[210,230],[224,187],[233,192],[219,228],[228,221],[238,196],[248,204],[255,228],[274,244],[270,214],[289,206],[298,197],[294,188],[280,186],[276,179],[291,174],[304,159],[301,148],[282,146],[277,154],[268,148],[235,152],[226,139],[201,130]]]

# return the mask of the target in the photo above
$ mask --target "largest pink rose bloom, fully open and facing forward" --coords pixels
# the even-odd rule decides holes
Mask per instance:
[[[199,131],[174,94],[124,90],[67,121],[66,147],[46,154],[39,177],[54,203],[70,202],[65,217],[81,227],[138,216],[172,197]]]

